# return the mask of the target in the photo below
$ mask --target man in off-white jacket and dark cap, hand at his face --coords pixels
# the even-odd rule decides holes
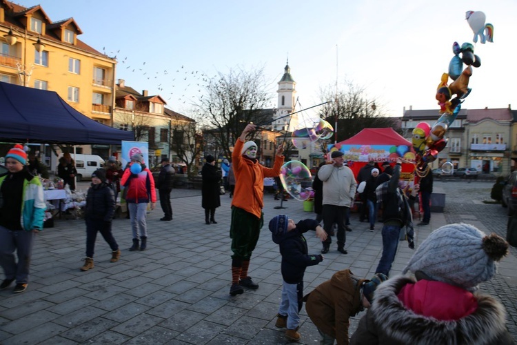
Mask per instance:
[[[344,165],[343,152],[333,151],[330,157],[332,161],[318,171],[318,178],[323,181],[323,228],[330,235],[332,224],[338,224],[338,251],[347,254],[345,217],[354,200],[357,183],[352,169]],[[321,253],[328,253],[331,243],[332,237],[327,236]]]

